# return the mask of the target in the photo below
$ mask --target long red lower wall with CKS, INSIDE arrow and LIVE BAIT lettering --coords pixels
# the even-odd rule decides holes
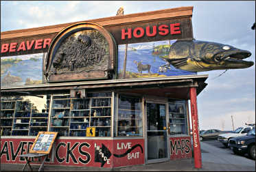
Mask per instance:
[[[25,158],[19,155],[27,154],[33,142],[34,139],[1,139],[1,163],[24,164]],[[105,168],[144,164],[144,141],[57,139],[52,162],[51,154],[45,164]]]

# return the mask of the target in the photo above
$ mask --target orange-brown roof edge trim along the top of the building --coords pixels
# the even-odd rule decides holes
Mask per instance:
[[[126,14],[124,16],[110,16],[106,18],[97,18],[91,20],[83,20],[73,23],[63,23],[59,25],[49,25],[45,27],[34,27],[30,29],[17,29],[12,31],[1,32],[1,40],[11,39],[17,37],[40,35],[43,33],[56,33],[61,29],[80,22],[94,22],[102,26],[108,25],[121,25],[124,23],[135,23],[146,20],[156,20],[160,18],[175,18],[181,16],[192,16],[193,6],[180,7],[180,8],[170,8],[164,10],[155,10],[150,12],[140,12],[135,14]]]

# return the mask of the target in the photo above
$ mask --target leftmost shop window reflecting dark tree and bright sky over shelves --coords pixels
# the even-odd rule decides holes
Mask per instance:
[[[49,96],[1,97],[1,135],[35,136],[47,131]]]

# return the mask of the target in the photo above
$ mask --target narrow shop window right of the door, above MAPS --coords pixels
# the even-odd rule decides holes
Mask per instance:
[[[187,134],[187,106],[185,100],[169,101],[170,134]]]

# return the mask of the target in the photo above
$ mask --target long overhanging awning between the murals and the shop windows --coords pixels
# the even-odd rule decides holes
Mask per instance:
[[[157,78],[115,79],[107,81],[81,81],[72,83],[45,83],[21,87],[2,87],[1,96],[39,95],[58,92],[69,93],[71,89],[86,91],[111,90],[133,94],[163,96],[165,98],[189,99],[189,87],[196,87],[197,95],[207,85],[208,75],[168,76]]]

